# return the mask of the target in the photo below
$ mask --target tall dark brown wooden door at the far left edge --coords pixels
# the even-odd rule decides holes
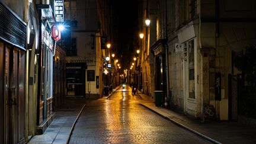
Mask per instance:
[[[5,49],[5,143],[24,142],[25,52]]]

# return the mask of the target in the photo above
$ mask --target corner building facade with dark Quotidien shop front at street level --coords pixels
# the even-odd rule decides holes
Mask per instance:
[[[70,27],[66,47],[66,96],[95,97],[103,94],[103,57],[98,34],[97,1],[65,1],[65,20]]]

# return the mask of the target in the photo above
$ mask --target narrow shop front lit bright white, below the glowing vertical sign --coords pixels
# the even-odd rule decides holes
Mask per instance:
[[[41,134],[53,120],[53,54],[55,41],[52,28],[55,19],[50,5],[37,5],[39,14],[39,50],[37,79],[37,134]]]

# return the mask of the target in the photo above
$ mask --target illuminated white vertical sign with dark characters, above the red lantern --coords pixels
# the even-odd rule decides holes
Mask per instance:
[[[63,0],[55,0],[55,20],[56,22],[64,22]]]

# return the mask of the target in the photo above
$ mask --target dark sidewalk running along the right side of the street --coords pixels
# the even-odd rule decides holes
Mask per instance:
[[[149,110],[159,114],[189,130],[196,135],[203,137],[213,143],[256,143],[256,129],[253,127],[238,124],[230,121],[201,122],[184,114],[178,114],[167,108],[156,107],[153,100],[148,95],[139,92],[144,100],[140,104]]]

